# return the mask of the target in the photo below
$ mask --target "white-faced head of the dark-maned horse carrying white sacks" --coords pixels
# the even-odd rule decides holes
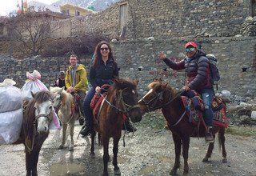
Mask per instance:
[[[39,91],[36,94],[32,93],[33,99],[30,100],[26,107],[26,118],[34,115],[27,122],[37,124],[38,133],[49,132],[49,125],[53,117],[53,95],[48,91]],[[34,122],[31,120],[34,119]]]

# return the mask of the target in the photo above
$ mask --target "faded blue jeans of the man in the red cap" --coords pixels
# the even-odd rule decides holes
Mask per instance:
[[[214,98],[214,90],[204,89],[204,90],[199,90],[198,93],[201,94],[203,105],[205,107],[204,119],[206,122],[206,126],[213,126],[214,111],[211,108],[211,103],[213,102],[213,98]]]

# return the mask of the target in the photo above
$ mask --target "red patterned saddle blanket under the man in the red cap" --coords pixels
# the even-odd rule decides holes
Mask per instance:
[[[198,126],[199,122],[201,123],[200,125],[203,125],[204,122],[202,122],[201,119],[203,119],[204,106],[200,95],[194,90],[190,90],[186,96],[181,97],[183,106],[186,109],[186,114],[189,117],[189,122],[195,126]],[[211,106],[214,111],[214,126],[226,128],[228,126],[228,122],[226,118],[225,102],[222,98],[214,96]]]

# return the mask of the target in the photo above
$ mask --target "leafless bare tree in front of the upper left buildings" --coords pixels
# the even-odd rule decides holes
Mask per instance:
[[[9,26],[14,50],[24,56],[41,54],[51,34],[59,29],[58,21],[44,11],[19,14],[10,18]]]

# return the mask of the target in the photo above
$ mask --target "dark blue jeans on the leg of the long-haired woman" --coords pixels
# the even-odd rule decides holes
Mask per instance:
[[[84,98],[83,103],[82,103],[83,113],[86,116],[85,117],[86,121],[89,122],[89,124],[87,124],[87,125],[90,125],[90,126],[92,126],[92,122],[94,119],[93,110],[90,109],[90,101],[94,97],[94,94],[95,94],[94,87],[90,87],[90,90],[87,92],[86,97]]]

